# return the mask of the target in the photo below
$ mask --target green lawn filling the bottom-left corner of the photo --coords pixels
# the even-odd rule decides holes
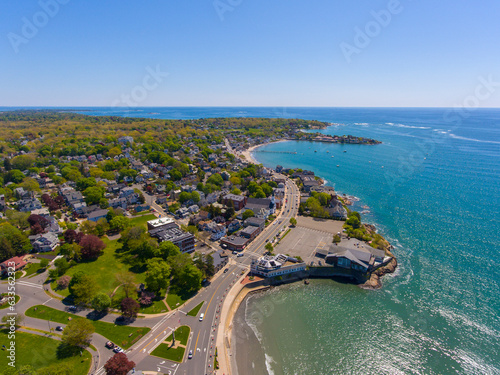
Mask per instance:
[[[0,331],[0,346],[5,345],[9,348],[10,341],[7,331]],[[92,356],[86,350],[83,351],[81,357],[77,355],[58,359],[57,347],[61,342],[47,337],[17,331],[15,342],[17,368],[23,365],[30,365],[34,370],[39,370],[49,366],[57,368],[64,366],[64,368],[72,369],[73,374],[86,374],[92,364]],[[8,362],[7,352],[2,351],[0,355],[0,373],[3,374],[7,369],[11,368]]]

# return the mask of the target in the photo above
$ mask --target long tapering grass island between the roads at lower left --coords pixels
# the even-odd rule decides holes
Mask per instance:
[[[37,309],[35,311],[35,308]],[[68,324],[68,318],[85,319],[65,311],[56,310],[51,307],[37,305],[26,310],[26,316],[52,322]],[[148,333],[151,329],[147,327],[119,326],[113,323],[91,320],[95,331],[124,349],[129,348],[134,342]]]

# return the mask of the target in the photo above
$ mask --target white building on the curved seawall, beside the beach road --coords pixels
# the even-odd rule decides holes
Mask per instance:
[[[252,260],[250,270],[253,274],[263,277],[274,277],[305,271],[306,264],[297,259],[278,254],[275,256],[265,255]]]

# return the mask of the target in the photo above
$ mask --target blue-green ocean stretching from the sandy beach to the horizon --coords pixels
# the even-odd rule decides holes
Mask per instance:
[[[500,110],[70,110],[164,119],[314,119],[333,124],[325,134],[383,142],[288,141],[253,153],[268,167],[311,169],[337,191],[358,197],[363,220],[394,245],[399,267],[377,291],[313,280],[247,298],[234,323],[240,375],[500,374]]]

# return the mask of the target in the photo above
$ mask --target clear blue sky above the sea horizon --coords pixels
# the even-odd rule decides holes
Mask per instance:
[[[500,82],[499,14],[498,0],[3,1],[0,106],[461,105],[481,77]],[[499,107],[500,84],[478,105]]]

